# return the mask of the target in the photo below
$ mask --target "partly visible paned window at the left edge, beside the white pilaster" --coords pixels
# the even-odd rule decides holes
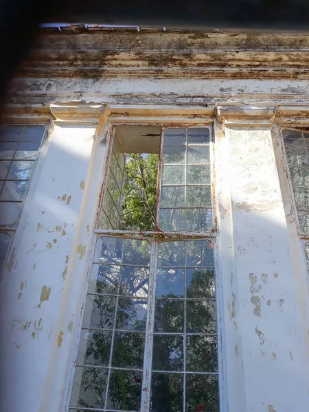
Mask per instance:
[[[0,132],[0,269],[16,230],[44,126],[10,125]]]

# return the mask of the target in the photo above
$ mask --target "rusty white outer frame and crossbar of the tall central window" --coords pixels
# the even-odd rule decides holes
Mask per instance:
[[[161,116],[160,116],[161,117]],[[181,124],[175,123],[175,122],[150,122],[148,119],[143,119],[141,122],[126,122],[126,121],[108,121],[108,124],[106,124],[106,132],[104,135],[104,138],[102,139],[102,143],[104,143],[106,146],[105,148],[105,154],[104,154],[104,159],[102,159],[103,162],[103,173],[102,173],[102,179],[101,179],[101,184],[100,184],[100,195],[98,199],[98,209],[95,215],[95,222],[94,222],[94,230],[93,230],[93,241],[91,242],[91,251],[89,251],[89,268],[87,271],[87,281],[85,284],[85,292],[84,296],[82,297],[82,311],[80,312],[80,317],[81,320],[83,319],[84,316],[84,301],[85,298],[87,297],[87,291],[88,291],[88,286],[89,286],[89,278],[91,274],[91,266],[93,262],[93,255],[94,255],[94,250],[95,250],[95,244],[98,238],[102,236],[119,236],[120,238],[138,238],[140,240],[148,240],[150,241],[150,247],[152,250],[152,247],[157,248],[159,247],[159,242],[155,240],[156,237],[161,236],[161,232],[158,231],[144,231],[144,232],[139,232],[139,231],[122,231],[122,230],[112,230],[112,229],[100,229],[99,228],[99,222],[100,222],[100,211],[102,208],[102,205],[104,203],[104,195],[106,193],[106,183],[107,183],[107,174],[108,174],[108,168],[111,160],[111,153],[113,149],[113,133],[114,133],[114,127],[115,126],[160,126],[161,127],[161,142],[162,142],[162,135],[163,131],[165,128],[198,128],[198,127],[207,127],[210,130],[210,141],[209,141],[209,152],[210,152],[210,164],[211,164],[211,198],[212,198],[212,216],[213,216],[213,229],[211,231],[207,232],[164,232],[165,235],[165,240],[211,240],[211,242],[214,245],[214,267],[215,267],[215,287],[216,287],[216,321],[217,321],[217,332],[216,332],[216,337],[217,337],[217,356],[218,356],[218,385],[219,385],[219,404],[220,404],[220,411],[226,411],[227,410],[227,382],[226,382],[226,377],[225,377],[225,368],[223,367],[224,359],[225,359],[225,345],[223,342],[223,335],[224,335],[224,330],[223,330],[223,320],[222,320],[222,282],[221,282],[221,273],[220,273],[220,262],[219,262],[219,246],[218,246],[218,236],[219,236],[219,231],[218,231],[218,203],[217,203],[217,192],[216,192],[216,153],[215,153],[215,124],[214,124],[214,119],[213,118],[208,118],[205,121],[201,121],[200,119],[196,119],[195,121],[192,120],[190,122],[183,122]],[[160,154],[161,154],[161,144],[160,144]],[[162,164],[161,164],[161,155],[159,156],[159,179],[158,179],[158,187],[160,186],[160,179],[161,179],[161,170],[162,170]],[[161,190],[161,187],[159,187],[159,190]],[[159,210],[157,209],[157,213],[159,216]],[[153,239],[151,241],[151,238]],[[153,246],[155,245],[155,246]],[[155,273],[156,266],[157,266],[157,253],[152,253],[152,257],[155,260],[154,264],[152,265],[154,270],[153,272]],[[152,275],[150,274],[150,279],[149,279],[149,290],[151,292],[149,293],[154,293],[155,288],[153,287],[153,284],[151,282],[154,282],[154,273]],[[153,299],[152,299],[153,300]],[[155,305],[153,305],[155,306]],[[147,313],[147,319],[148,317],[154,317],[155,310],[154,308],[152,311],[148,308],[148,313]],[[82,325],[80,321],[80,326],[78,330],[78,336],[77,339],[79,341],[80,335],[82,332]],[[152,339],[153,342],[153,339]],[[71,379],[69,382],[69,387],[68,387],[68,396],[67,396],[67,407],[69,408],[69,402],[71,399],[71,391],[72,391],[72,386],[73,386],[73,377],[74,377],[74,370],[75,370],[75,364],[76,364],[76,356],[78,354],[78,344],[76,343],[75,345],[75,350],[74,350],[74,367],[73,371],[71,373]],[[146,358],[144,358],[144,367],[146,365],[150,365],[150,371],[151,371],[151,363],[152,363],[152,345],[148,345],[148,352],[146,354],[145,350],[145,356],[148,356],[148,362],[146,362]],[[149,405],[150,402],[150,391],[142,391],[141,394],[141,411],[148,411],[148,409],[143,409],[143,402]]]

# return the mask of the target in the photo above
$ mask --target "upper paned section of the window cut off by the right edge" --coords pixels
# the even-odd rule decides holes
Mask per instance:
[[[284,148],[302,233],[309,233],[309,133],[284,129]]]

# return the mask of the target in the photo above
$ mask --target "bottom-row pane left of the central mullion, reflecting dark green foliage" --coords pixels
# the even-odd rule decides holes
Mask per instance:
[[[140,371],[112,370],[106,409],[139,411],[142,380],[143,376]]]

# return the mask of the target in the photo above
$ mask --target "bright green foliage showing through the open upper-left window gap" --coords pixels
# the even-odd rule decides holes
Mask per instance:
[[[158,160],[156,154],[127,155],[119,229],[155,229]]]

